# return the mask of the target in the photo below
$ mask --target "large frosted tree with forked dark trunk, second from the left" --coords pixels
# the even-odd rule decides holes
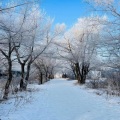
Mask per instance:
[[[40,13],[36,8],[32,10],[31,15],[25,16],[19,32],[19,47],[15,47],[16,56],[21,65],[21,89],[27,87],[32,63],[48,48],[51,41],[62,33],[59,25],[51,30],[52,20],[47,18],[44,13]],[[29,13],[29,11],[27,12]]]

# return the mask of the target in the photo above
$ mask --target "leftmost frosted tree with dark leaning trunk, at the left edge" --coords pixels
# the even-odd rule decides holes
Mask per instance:
[[[8,62],[8,80],[5,85],[5,92],[3,96],[5,99],[7,99],[9,86],[12,81],[12,62],[14,60],[14,50],[19,47],[18,38],[21,38],[20,32],[26,18],[26,9],[22,10],[20,13],[16,13],[16,8],[17,6],[14,7],[14,9],[11,8],[9,11],[0,14],[0,51]]]

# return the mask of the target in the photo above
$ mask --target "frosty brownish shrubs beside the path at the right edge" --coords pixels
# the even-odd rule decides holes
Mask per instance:
[[[107,73],[107,74],[106,74]],[[102,89],[108,95],[120,96],[120,74],[119,72],[107,71],[106,79],[92,79],[86,83],[86,86],[92,89]]]

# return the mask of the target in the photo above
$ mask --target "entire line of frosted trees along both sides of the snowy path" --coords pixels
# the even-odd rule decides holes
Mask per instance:
[[[65,24],[53,28],[53,20],[46,17],[37,4],[24,4],[0,13],[0,59],[7,63],[8,70],[4,98],[8,96],[14,62],[21,67],[21,90],[27,87],[31,67],[37,70],[40,84],[42,76],[46,81],[53,78],[55,71],[63,69],[61,66],[69,69],[80,84],[85,83],[90,70],[102,66],[114,68],[119,79],[118,4],[113,0],[87,2],[94,11],[106,15],[79,18],[64,35]]]

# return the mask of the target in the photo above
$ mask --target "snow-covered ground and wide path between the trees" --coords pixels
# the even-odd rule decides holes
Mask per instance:
[[[109,102],[75,81],[51,80],[34,92],[0,104],[1,120],[120,120],[120,104]],[[33,86],[33,85],[32,85]],[[31,86],[29,86],[31,87]],[[23,99],[22,96],[26,96]],[[18,102],[19,101],[19,102]]]

